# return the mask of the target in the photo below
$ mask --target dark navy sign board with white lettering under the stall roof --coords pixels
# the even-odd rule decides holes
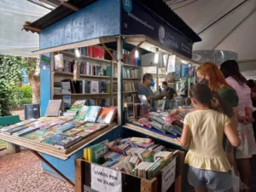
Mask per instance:
[[[123,35],[144,34],[181,55],[192,58],[193,43],[169,26],[165,20],[160,19],[136,0],[122,0],[121,7]]]

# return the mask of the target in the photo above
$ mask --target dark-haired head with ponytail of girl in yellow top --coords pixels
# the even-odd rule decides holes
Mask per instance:
[[[210,90],[207,84],[195,84],[194,88],[189,91],[192,102],[196,105],[206,106],[228,117],[233,115],[232,108],[228,108],[218,92]]]

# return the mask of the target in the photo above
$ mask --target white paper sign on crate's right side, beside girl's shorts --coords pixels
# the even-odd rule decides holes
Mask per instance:
[[[162,192],[166,192],[175,181],[176,158],[162,170]]]

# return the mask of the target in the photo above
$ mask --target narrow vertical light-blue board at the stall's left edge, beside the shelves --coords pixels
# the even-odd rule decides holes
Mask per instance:
[[[50,54],[44,54],[50,57]],[[52,64],[52,63],[51,63]],[[50,100],[50,70],[40,69],[41,116],[44,117]]]

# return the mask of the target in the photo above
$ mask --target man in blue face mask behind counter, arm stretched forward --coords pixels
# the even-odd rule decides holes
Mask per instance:
[[[144,95],[147,97],[148,101],[150,102],[151,97],[156,97],[157,100],[163,99],[165,96],[168,96],[168,92],[163,92],[158,96],[154,96],[153,91],[150,87],[154,87],[154,80],[153,76],[150,73],[145,73],[143,75],[143,84],[137,90],[138,95]]]

